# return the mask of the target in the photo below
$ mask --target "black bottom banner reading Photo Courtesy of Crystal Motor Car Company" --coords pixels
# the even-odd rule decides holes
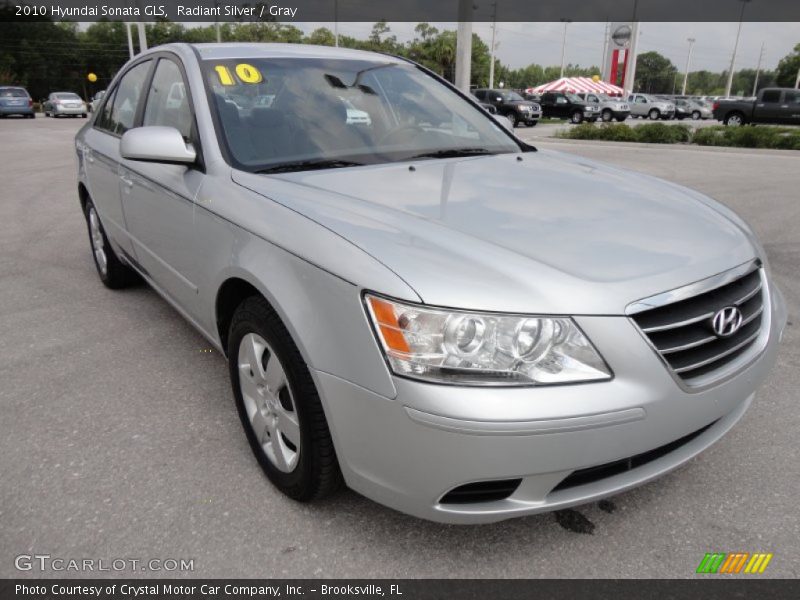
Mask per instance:
[[[481,599],[759,600],[800,597],[798,580],[702,576],[697,579],[5,579],[0,599],[24,600],[263,600],[363,598],[377,600]]]

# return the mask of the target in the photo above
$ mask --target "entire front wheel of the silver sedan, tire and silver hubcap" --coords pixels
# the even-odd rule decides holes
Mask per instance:
[[[262,297],[236,309],[228,362],[239,418],[267,478],[302,502],[336,491],[342,476],[319,394],[289,332]]]

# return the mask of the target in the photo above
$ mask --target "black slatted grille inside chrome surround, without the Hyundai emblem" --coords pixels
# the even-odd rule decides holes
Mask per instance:
[[[742,324],[729,337],[714,333],[717,311],[735,306]],[[655,349],[681,379],[712,374],[746,353],[756,342],[763,321],[761,269],[756,268],[720,287],[691,298],[632,315]]]

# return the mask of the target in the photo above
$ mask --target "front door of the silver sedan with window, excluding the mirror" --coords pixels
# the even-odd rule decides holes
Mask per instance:
[[[141,126],[174,127],[199,150],[187,91],[178,59],[160,57],[143,94]],[[120,169],[122,206],[139,263],[164,293],[192,314],[197,303],[194,199],[204,177],[194,166],[127,159]]]

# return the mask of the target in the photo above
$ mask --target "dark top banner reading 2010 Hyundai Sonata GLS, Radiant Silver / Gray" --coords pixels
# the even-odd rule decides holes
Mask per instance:
[[[5,5],[5,6],[3,6]],[[0,21],[800,21],[798,0],[0,0]]]

